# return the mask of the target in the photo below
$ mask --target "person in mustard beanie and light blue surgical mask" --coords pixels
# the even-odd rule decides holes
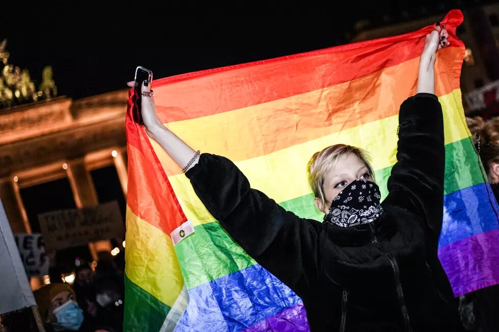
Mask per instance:
[[[111,332],[85,324],[76,295],[67,284],[49,284],[35,291],[34,295],[47,332]]]

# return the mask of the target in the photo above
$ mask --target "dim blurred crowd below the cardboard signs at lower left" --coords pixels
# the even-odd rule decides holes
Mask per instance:
[[[121,332],[124,314],[124,257],[98,253],[97,266],[78,262],[74,282],[51,282],[34,292],[46,332]],[[57,281],[57,280],[56,280]],[[31,310],[2,317],[5,332],[37,331]],[[2,327],[0,327],[2,328]],[[0,329],[0,332],[4,332]]]

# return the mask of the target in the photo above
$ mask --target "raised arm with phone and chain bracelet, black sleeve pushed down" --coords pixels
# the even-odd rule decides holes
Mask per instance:
[[[133,86],[133,82],[128,83]],[[143,91],[149,91],[147,86]],[[321,224],[287,212],[224,157],[197,156],[156,115],[152,97],[142,97],[148,135],[182,168],[210,214],[251,257],[296,293],[306,291],[318,275],[318,233]],[[195,161],[187,166],[194,156]],[[303,294],[303,293],[302,293]]]

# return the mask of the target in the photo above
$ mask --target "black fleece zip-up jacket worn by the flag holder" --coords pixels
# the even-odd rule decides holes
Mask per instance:
[[[445,146],[436,96],[407,99],[399,124],[385,213],[371,224],[299,218],[224,157],[203,154],[186,172],[235,242],[303,299],[312,331],[452,331],[459,321],[437,257]]]

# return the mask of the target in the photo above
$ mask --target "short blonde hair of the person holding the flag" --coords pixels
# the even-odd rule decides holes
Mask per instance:
[[[374,178],[373,168],[369,162],[367,152],[361,148],[346,145],[336,144],[323,149],[321,152],[316,152],[310,158],[307,170],[309,173],[309,183],[316,198],[320,200],[323,206],[326,205],[326,197],[324,195],[324,174],[334,166],[339,158],[355,154],[369,170],[369,173]]]

